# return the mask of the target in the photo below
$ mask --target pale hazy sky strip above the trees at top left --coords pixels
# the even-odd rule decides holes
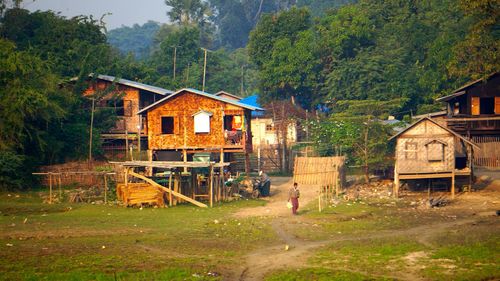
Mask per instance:
[[[104,18],[108,30],[148,20],[168,21],[164,0],[24,0],[21,6],[30,11],[61,12],[68,18],[93,15],[98,20],[103,14],[112,13]]]

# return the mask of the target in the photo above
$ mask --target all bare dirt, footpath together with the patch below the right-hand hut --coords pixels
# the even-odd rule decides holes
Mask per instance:
[[[494,216],[495,210],[499,209],[498,194],[495,190],[485,190],[482,192],[461,194],[451,204],[441,210],[427,210],[430,220],[425,220],[421,225],[392,231],[369,232],[355,236],[345,235],[322,241],[305,241],[298,239],[287,231],[287,228],[294,223],[307,221],[304,216],[292,216],[290,210],[285,207],[288,196],[288,189],[293,184],[292,180],[285,178],[274,179],[271,188],[271,197],[265,199],[268,204],[263,207],[241,209],[234,215],[237,217],[266,216],[272,219],[271,225],[280,238],[281,243],[272,247],[258,249],[249,253],[245,257],[245,264],[235,269],[231,273],[231,279],[239,280],[263,280],[267,274],[276,270],[296,269],[306,265],[308,257],[314,254],[314,250],[327,246],[331,243],[353,240],[370,240],[388,237],[415,237],[415,240],[429,248],[435,243],[434,238],[449,229],[459,228],[465,225],[474,225],[485,216]],[[315,200],[317,188],[301,188],[302,206]],[[410,199],[411,200],[411,199]],[[419,210],[419,212],[422,212]],[[448,218],[443,222],[442,217]],[[432,217],[441,218],[433,221]],[[422,267],[422,262],[428,258],[425,251],[412,252],[404,256],[404,267],[407,269],[399,272],[396,276],[386,276],[404,280],[425,280],[419,275],[418,270]],[[455,265],[444,262],[443,266],[454,269]],[[349,269],[346,269],[349,270]],[[352,270],[352,269],[350,269]],[[361,270],[361,269],[360,269]],[[359,271],[358,273],[364,273]]]

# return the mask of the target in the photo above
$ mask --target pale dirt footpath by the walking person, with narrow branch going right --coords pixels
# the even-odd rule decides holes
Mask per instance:
[[[267,216],[272,219],[271,225],[281,240],[281,243],[272,247],[257,249],[249,253],[245,257],[245,264],[233,272],[233,279],[239,280],[263,280],[265,275],[279,269],[286,268],[300,268],[305,266],[307,258],[311,256],[315,249],[334,242],[354,241],[354,240],[368,240],[396,236],[414,236],[417,241],[426,246],[432,246],[432,238],[437,234],[446,231],[449,228],[457,227],[474,223],[481,219],[483,215],[491,215],[491,212],[481,213],[478,216],[467,217],[464,219],[457,219],[447,223],[436,223],[421,225],[414,228],[404,230],[391,230],[380,231],[359,236],[347,236],[335,239],[328,239],[323,241],[302,241],[286,232],[287,225],[303,220],[301,216],[294,217],[290,214],[290,210],[285,207],[287,199],[287,190],[290,188],[292,182],[286,178],[277,178],[273,180],[271,188],[271,198],[267,199],[269,203],[264,207],[242,209],[235,216],[248,217],[248,216]],[[306,205],[311,200],[315,199],[316,189],[301,189],[301,204]],[[418,254],[418,253],[415,253]],[[412,256],[408,258],[411,263]],[[411,266],[410,266],[411,268]],[[340,268],[339,268],[340,269]],[[347,271],[350,271],[346,269]],[[364,272],[359,271],[363,274]],[[416,272],[408,270],[407,272],[398,273],[397,276],[384,277],[402,279],[402,280],[423,280]]]

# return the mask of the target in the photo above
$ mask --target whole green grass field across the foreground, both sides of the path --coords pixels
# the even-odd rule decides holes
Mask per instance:
[[[266,280],[500,278],[498,217],[471,215],[477,206],[468,202],[422,210],[373,199],[321,213],[311,202],[294,218],[233,216],[264,204],[138,209],[48,205],[38,192],[0,193],[0,279],[234,280],[249,253],[281,247],[276,223],[297,249],[309,248],[290,268],[270,262]],[[262,258],[280,254],[269,253]]]

